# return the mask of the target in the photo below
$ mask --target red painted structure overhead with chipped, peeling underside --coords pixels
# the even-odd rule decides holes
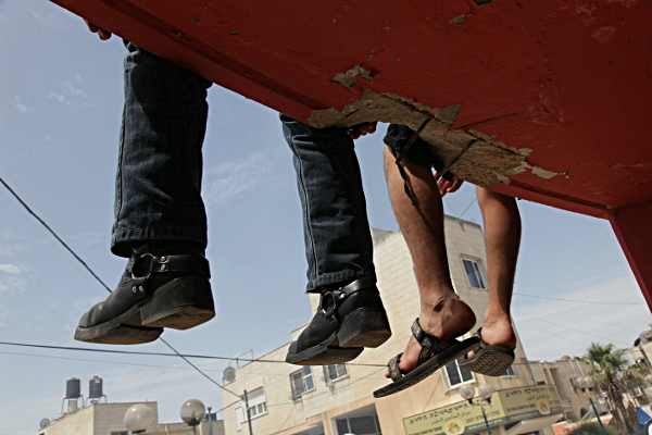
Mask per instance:
[[[52,1],[315,126],[429,120],[463,178],[609,219],[652,307],[652,1]]]

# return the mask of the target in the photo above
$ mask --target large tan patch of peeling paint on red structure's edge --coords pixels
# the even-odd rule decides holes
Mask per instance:
[[[349,77],[351,71],[347,73]],[[342,83],[340,85],[347,87]],[[531,152],[528,148],[507,147],[502,141],[496,140],[496,136],[474,128],[449,130],[461,108],[461,104],[442,109],[430,108],[396,94],[377,94],[365,89],[360,99],[346,105],[342,111],[334,108],[315,110],[306,122],[313,127],[324,128],[350,127],[364,122],[380,121],[408,125],[416,130],[426,117],[430,117],[431,121],[426,125],[421,137],[428,142],[432,153],[444,164],[452,162],[464,147],[473,142],[451,166],[451,172],[469,183],[482,187],[509,184],[510,175],[522,174],[527,170],[544,179],[557,175],[526,163],[525,159]]]

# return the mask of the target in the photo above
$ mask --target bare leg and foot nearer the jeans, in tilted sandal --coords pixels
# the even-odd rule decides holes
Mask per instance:
[[[403,190],[403,178],[394,158],[385,149],[385,173],[392,208],[410,248],[418,281],[422,327],[441,339],[454,338],[468,332],[476,322],[473,310],[453,291],[443,241],[443,207],[439,187],[430,169],[402,161],[417,206]],[[421,346],[410,338],[399,368],[414,369]]]

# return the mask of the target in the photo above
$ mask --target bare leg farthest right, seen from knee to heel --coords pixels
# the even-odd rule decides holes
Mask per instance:
[[[481,187],[476,187],[476,191],[485,221],[489,263],[489,304],[485,311],[482,340],[512,348],[516,345],[516,336],[510,304],[521,246],[521,214],[514,198]]]

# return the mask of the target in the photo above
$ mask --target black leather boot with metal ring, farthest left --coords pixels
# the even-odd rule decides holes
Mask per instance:
[[[134,254],[113,293],[79,320],[75,339],[134,345],[164,327],[188,330],[215,316],[209,261],[198,253]]]

